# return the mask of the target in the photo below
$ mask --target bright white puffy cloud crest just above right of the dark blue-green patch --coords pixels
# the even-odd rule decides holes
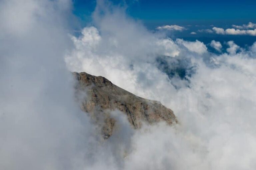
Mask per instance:
[[[196,52],[198,54],[203,54],[207,52],[207,47],[203,42],[196,40],[195,42],[188,42],[182,39],[176,40],[177,44],[184,45],[189,51]]]

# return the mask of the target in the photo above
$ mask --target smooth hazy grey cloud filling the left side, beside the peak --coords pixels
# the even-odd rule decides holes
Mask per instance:
[[[0,9],[0,169],[80,169],[94,138],[63,61],[71,2],[4,0]]]

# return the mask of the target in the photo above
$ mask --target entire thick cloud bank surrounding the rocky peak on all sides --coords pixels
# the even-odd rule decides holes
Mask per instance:
[[[0,169],[256,168],[256,43],[172,40],[104,1],[71,40],[70,1],[6,0],[0,9]],[[66,66],[161,101],[179,124],[135,131],[114,111],[118,128],[101,140]]]

